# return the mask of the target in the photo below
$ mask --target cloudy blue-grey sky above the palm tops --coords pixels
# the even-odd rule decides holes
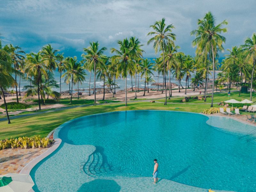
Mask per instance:
[[[136,36],[146,51],[145,57],[155,57],[152,44],[146,45],[150,25],[163,17],[173,24],[176,44],[182,52],[194,55],[191,46],[197,19],[211,11],[217,23],[228,20],[225,49],[243,44],[256,32],[255,0],[179,0],[179,1],[89,1],[89,0],[1,0],[0,33],[3,43],[19,45],[26,52],[38,52],[52,44],[65,56],[80,57],[89,41],[100,46],[116,47],[116,41]]]

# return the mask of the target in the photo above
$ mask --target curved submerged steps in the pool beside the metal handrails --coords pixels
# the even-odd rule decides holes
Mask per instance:
[[[113,166],[111,162],[103,163],[102,155],[96,151],[89,156],[87,162],[81,162],[79,165],[79,172],[87,174],[88,179],[104,177],[117,171],[121,171],[120,166]]]

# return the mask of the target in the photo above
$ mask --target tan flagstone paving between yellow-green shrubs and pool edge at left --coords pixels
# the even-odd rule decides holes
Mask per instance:
[[[20,173],[31,160],[44,153],[48,148],[9,148],[0,150],[0,175]]]

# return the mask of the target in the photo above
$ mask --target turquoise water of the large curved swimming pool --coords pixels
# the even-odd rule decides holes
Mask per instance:
[[[156,158],[159,178],[199,188],[255,191],[255,139],[220,129],[227,126],[255,129],[228,118],[173,111],[84,116],[55,132],[62,143],[31,171],[34,190],[84,191],[88,167],[90,180],[150,179]]]

